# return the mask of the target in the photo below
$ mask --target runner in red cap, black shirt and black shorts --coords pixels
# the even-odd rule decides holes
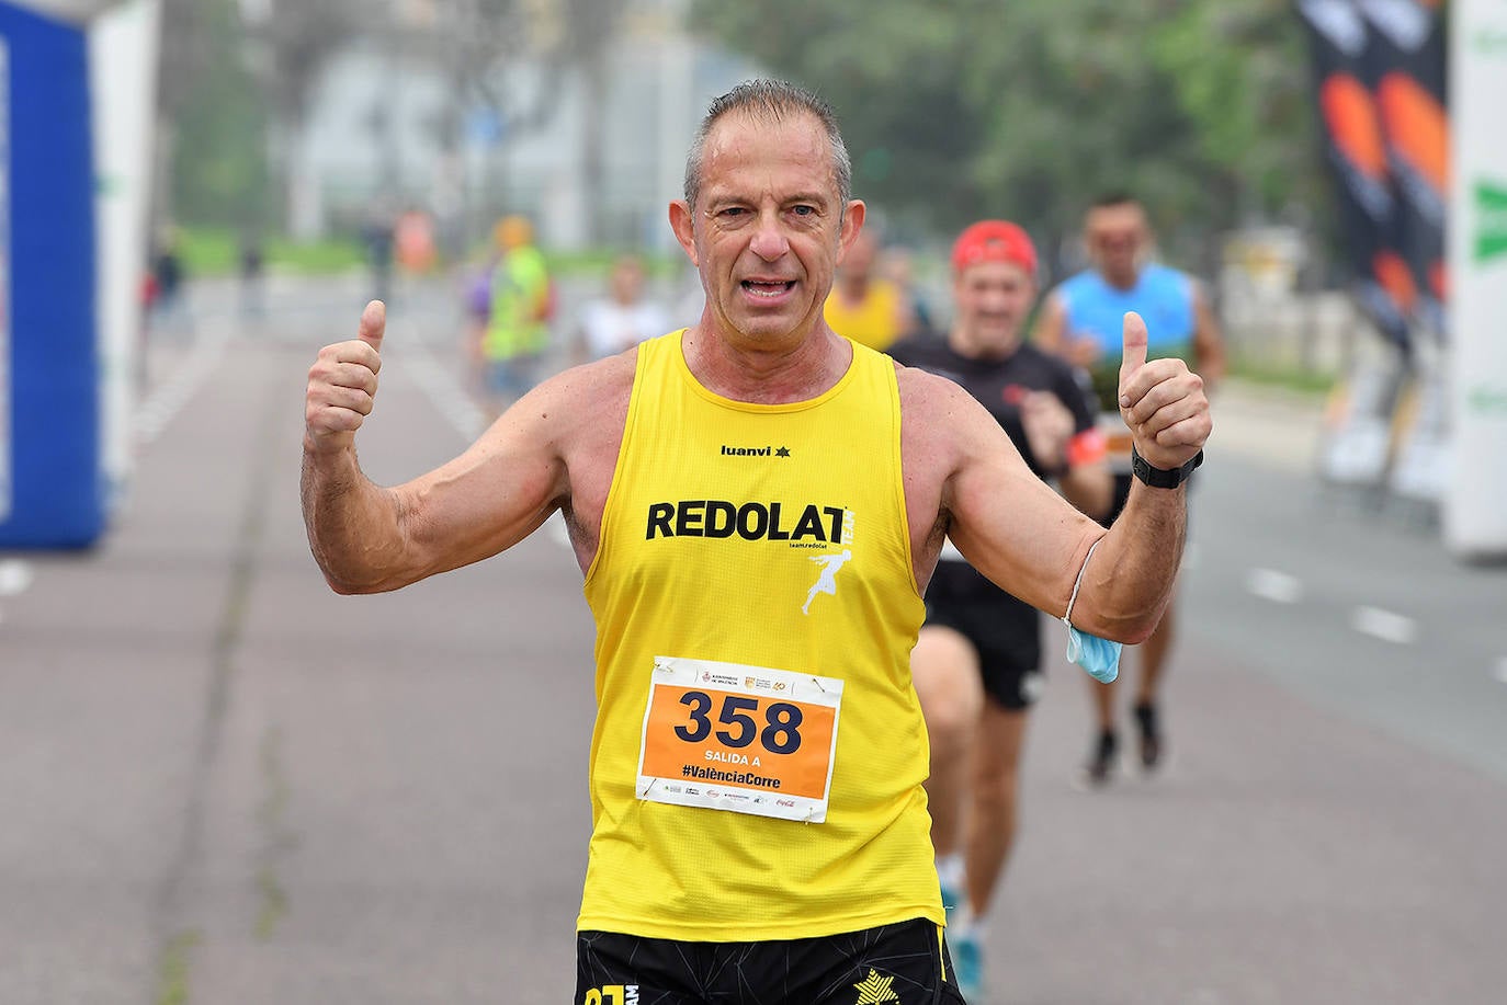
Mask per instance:
[[[912,339],[897,362],[957,381],[1010,434],[1031,472],[1091,517],[1114,488],[1103,432],[1074,368],[1026,345],[1037,253],[1014,223],[984,220],[952,244],[946,339]],[[931,844],[958,987],[983,996],[984,915],[1016,835],[1026,713],[1041,693],[1041,615],[943,545],[910,672],[931,738]]]

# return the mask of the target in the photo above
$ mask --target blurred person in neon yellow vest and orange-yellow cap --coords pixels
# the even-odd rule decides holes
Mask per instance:
[[[527,393],[541,377],[553,313],[553,286],[544,255],[524,217],[503,217],[493,229],[497,264],[491,306],[481,330],[479,359],[494,411]]]

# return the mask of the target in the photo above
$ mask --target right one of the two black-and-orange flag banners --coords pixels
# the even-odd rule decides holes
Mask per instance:
[[[1442,0],[1359,0],[1370,27],[1367,78],[1392,176],[1395,250],[1406,265],[1398,289],[1412,318],[1445,331],[1445,208],[1450,121],[1445,102]]]

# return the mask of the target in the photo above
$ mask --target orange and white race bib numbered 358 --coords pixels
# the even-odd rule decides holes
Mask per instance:
[[[656,657],[639,799],[818,824],[841,705],[838,678]]]

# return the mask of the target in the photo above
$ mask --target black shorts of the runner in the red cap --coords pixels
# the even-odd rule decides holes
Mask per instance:
[[[984,693],[1010,710],[1041,696],[1041,612],[999,589],[966,562],[942,561],[927,585],[927,624],[974,643]]]

